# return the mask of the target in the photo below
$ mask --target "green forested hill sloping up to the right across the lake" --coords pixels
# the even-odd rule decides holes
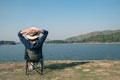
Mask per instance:
[[[120,30],[96,31],[66,39],[67,42],[120,42]]]

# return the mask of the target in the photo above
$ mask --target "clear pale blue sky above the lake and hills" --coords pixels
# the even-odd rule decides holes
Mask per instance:
[[[0,40],[19,41],[30,27],[50,40],[120,29],[120,0],[0,0]]]

